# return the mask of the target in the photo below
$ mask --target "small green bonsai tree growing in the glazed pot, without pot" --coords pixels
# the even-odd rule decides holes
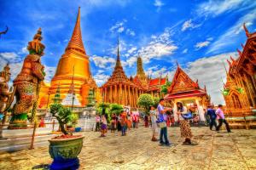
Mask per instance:
[[[73,112],[70,110],[70,108],[64,107],[61,104],[55,103],[52,105],[49,105],[50,113],[52,116],[55,116],[57,121],[60,124],[61,132],[67,135],[67,130],[65,129],[65,125],[68,123],[73,122]]]

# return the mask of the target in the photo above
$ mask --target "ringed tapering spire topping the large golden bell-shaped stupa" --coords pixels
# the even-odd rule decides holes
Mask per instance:
[[[81,27],[80,27],[80,7],[79,7],[79,13],[77,16],[76,25],[73,29],[72,37],[70,38],[70,41],[68,42],[67,50],[74,49],[82,54],[85,54],[84,49],[84,43],[82,40],[82,33],[81,33]]]

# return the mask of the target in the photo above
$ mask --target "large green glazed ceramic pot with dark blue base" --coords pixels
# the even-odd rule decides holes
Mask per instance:
[[[84,136],[70,139],[49,139],[49,155],[54,159],[51,169],[79,164],[79,153],[83,147]]]

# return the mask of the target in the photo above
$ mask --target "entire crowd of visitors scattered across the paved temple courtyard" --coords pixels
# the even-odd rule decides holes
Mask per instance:
[[[175,111],[174,111],[175,110]],[[183,105],[182,102],[176,103],[176,108],[168,108],[165,107],[165,100],[160,99],[159,105],[157,108],[154,106],[150,106],[149,116],[144,116],[144,126],[149,127],[149,124],[152,127],[152,141],[160,141],[160,145],[170,146],[172,143],[168,139],[167,127],[170,127],[172,119],[170,121],[170,115],[166,114],[166,112],[176,112],[177,119],[179,122],[181,137],[184,139],[183,144],[192,144],[192,132],[190,128],[190,120],[195,119],[195,116],[191,113],[190,110],[187,109],[186,106]],[[223,105],[218,105],[218,109],[215,111],[213,105],[209,105],[207,107],[207,114],[210,118],[210,129],[214,126],[216,131],[220,130],[223,123],[226,125],[227,131],[230,133],[229,123],[225,120]],[[108,122],[107,115],[103,114],[102,116],[96,116],[96,131],[101,129],[101,137],[105,137],[108,130]],[[218,119],[218,125],[217,125]],[[125,136],[127,129],[137,128],[139,122],[139,115],[134,114],[131,111],[125,112],[122,111],[119,115],[113,114],[111,116],[111,132],[115,132],[116,130],[121,131],[121,135]],[[172,122],[172,123],[171,123]],[[160,128],[160,137],[157,138]]]

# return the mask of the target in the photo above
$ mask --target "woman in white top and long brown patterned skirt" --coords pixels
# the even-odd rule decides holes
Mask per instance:
[[[183,106],[183,103],[177,102],[177,116],[179,118],[179,123],[180,123],[180,133],[181,137],[185,138],[185,141],[183,144],[191,144],[191,138],[192,138],[192,133],[191,133],[191,128],[189,125],[189,119],[184,119],[183,114],[187,114],[187,108]]]

